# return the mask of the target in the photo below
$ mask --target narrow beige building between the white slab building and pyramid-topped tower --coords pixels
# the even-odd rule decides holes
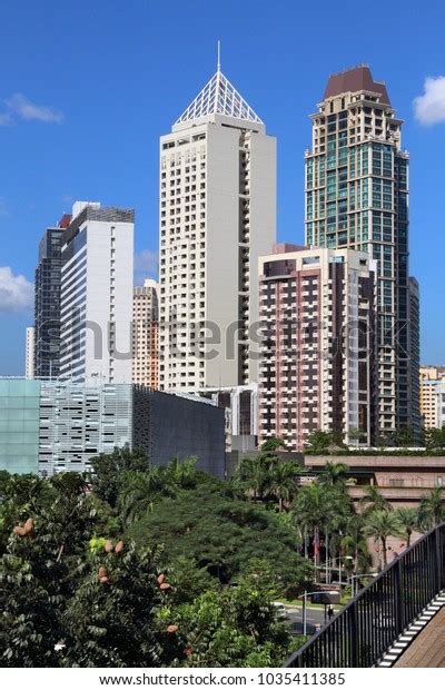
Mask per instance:
[[[159,388],[159,285],[147,279],[132,296],[132,382]]]

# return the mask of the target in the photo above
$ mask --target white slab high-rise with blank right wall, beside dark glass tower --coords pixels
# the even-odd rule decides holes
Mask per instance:
[[[60,378],[131,382],[135,211],[77,201],[61,246]]]

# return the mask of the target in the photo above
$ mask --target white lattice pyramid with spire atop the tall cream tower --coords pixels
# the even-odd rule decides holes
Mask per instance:
[[[188,122],[189,120],[195,120],[196,118],[212,114],[227,115],[238,120],[248,120],[249,122],[263,125],[257,114],[250,108],[240,93],[238,93],[227,77],[222,75],[219,41],[216,73],[189,105],[187,110],[176,120],[175,125]]]

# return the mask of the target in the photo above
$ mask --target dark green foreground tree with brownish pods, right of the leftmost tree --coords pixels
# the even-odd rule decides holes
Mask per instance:
[[[79,559],[79,585],[63,614],[62,666],[156,668],[184,658],[181,639],[158,620],[171,589],[159,556],[120,541],[87,563]]]

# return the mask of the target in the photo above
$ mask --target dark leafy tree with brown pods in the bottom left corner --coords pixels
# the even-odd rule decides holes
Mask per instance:
[[[12,477],[7,502],[11,515],[19,516],[0,564],[0,649],[9,667],[57,666],[55,645],[63,637],[72,563],[85,554],[93,525],[105,523],[80,475],[56,475],[44,490],[34,480]]]

